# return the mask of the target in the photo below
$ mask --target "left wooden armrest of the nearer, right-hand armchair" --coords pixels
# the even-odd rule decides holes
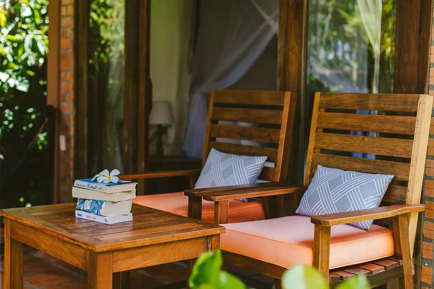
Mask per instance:
[[[255,197],[265,197],[272,195],[283,195],[291,194],[296,192],[306,191],[306,186],[292,185],[292,186],[276,186],[273,188],[256,188],[256,189],[245,189],[239,191],[230,192],[217,192],[204,195],[204,200],[207,201],[230,201],[237,200],[240,198],[255,198]]]

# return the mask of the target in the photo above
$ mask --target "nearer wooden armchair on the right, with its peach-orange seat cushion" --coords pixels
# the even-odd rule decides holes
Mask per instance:
[[[275,278],[296,263],[310,264],[329,278],[331,288],[355,274],[367,276],[372,287],[398,279],[399,288],[413,288],[411,256],[418,212],[424,210],[420,199],[432,105],[429,95],[317,93],[304,186],[216,192],[204,199],[215,202],[216,219],[224,224],[228,201],[306,190],[316,167],[323,165],[395,175],[382,206],[312,218],[296,215],[225,224],[220,239],[225,261]],[[356,109],[378,110],[378,114],[354,114]],[[380,134],[356,136],[349,131]],[[376,158],[355,158],[348,152]],[[369,231],[348,225],[377,219],[393,230],[375,223]]]

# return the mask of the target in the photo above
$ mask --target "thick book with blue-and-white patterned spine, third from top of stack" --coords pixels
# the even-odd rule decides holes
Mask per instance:
[[[132,200],[112,202],[79,198],[77,201],[77,209],[105,217],[129,214],[131,206]]]

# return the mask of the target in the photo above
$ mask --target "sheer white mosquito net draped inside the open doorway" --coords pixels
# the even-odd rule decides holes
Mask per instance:
[[[278,32],[278,0],[201,1],[183,150],[201,158],[208,97],[238,81]]]

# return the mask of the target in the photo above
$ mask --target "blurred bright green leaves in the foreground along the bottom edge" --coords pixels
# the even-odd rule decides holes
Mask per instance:
[[[191,289],[247,289],[237,277],[221,270],[221,251],[202,254],[194,263],[189,279]],[[283,289],[328,289],[329,283],[317,270],[306,265],[297,265],[287,270],[282,277]],[[369,289],[365,276],[355,276],[342,282],[336,289]]]

